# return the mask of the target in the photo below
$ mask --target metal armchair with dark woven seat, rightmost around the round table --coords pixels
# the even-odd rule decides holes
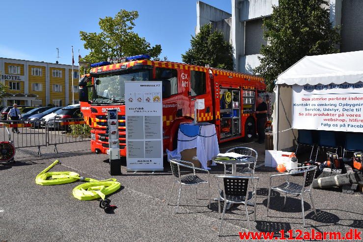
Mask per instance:
[[[297,170],[297,171],[296,171]],[[312,207],[314,209],[315,215],[316,215],[316,210],[315,210],[315,206],[314,206],[314,201],[312,199],[312,193],[311,193],[311,185],[312,185],[312,181],[314,180],[314,176],[315,176],[315,172],[316,172],[316,166],[302,166],[302,167],[297,167],[297,168],[292,168],[290,170],[289,173],[283,173],[283,174],[277,174],[277,175],[272,175],[270,177],[270,188],[269,188],[269,197],[268,197],[268,201],[267,201],[267,216],[269,216],[269,206],[270,206],[270,196],[271,196],[271,189],[272,190],[277,190],[280,192],[284,193],[284,202],[283,202],[283,206],[285,206],[286,204],[286,194],[299,194],[301,196],[301,209],[302,209],[302,214],[303,214],[303,224],[305,227],[305,215],[304,215],[304,198],[303,198],[303,194],[308,192],[310,195],[310,200],[311,200],[311,204]],[[293,182],[289,182],[289,178],[292,175],[304,175],[303,181],[301,184],[297,184],[297,183],[293,183]],[[280,176],[286,176],[286,181],[282,184],[280,184],[279,186],[276,187],[272,187],[272,178],[273,177],[280,177]]]

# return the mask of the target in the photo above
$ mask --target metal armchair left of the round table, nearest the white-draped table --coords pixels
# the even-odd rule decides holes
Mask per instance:
[[[181,160],[176,160],[176,159],[170,159],[169,162],[170,162],[171,172],[177,179],[173,182],[173,186],[171,188],[170,196],[169,196],[169,199],[168,199],[168,205],[169,205],[169,201],[170,201],[171,194],[173,192],[175,183],[179,184],[178,202],[177,202],[176,211],[175,211],[176,213],[178,213],[178,209],[179,209],[180,193],[181,193],[182,186],[193,186],[193,185],[195,186],[195,185],[207,183],[208,184],[208,201],[209,201],[209,208],[210,208],[211,199],[210,199],[210,182],[209,182],[210,173],[209,173],[209,171],[206,170],[206,169],[197,168],[197,167],[194,166],[194,164],[192,162],[189,162],[189,161],[181,161]],[[191,164],[191,165],[186,165],[186,164],[183,164],[183,163],[187,163],[187,164]],[[181,177],[180,167],[193,169],[193,175],[187,175],[187,176]],[[195,175],[195,170],[200,170],[200,171],[207,172],[207,174],[208,174],[207,181],[204,181],[203,179],[201,179],[197,175]],[[195,186],[195,198],[197,198],[196,186]]]

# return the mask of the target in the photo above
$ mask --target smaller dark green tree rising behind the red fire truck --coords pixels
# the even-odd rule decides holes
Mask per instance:
[[[226,70],[233,69],[233,47],[224,41],[223,33],[219,30],[212,30],[212,25],[203,25],[200,31],[192,36],[191,47],[182,54],[183,62],[192,65],[211,67]]]

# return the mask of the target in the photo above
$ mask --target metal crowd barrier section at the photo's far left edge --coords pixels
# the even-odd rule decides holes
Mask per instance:
[[[44,121],[23,121],[23,120],[6,120],[0,123],[0,127],[5,126],[10,134],[3,129],[0,134],[4,141],[11,141],[15,148],[37,147],[38,155],[41,156],[40,147],[47,146],[47,133],[39,129],[41,125],[45,126]]]

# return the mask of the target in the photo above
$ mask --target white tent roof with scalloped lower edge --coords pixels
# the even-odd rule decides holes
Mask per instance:
[[[363,81],[363,51],[305,56],[281,73],[276,84],[341,84]]]

